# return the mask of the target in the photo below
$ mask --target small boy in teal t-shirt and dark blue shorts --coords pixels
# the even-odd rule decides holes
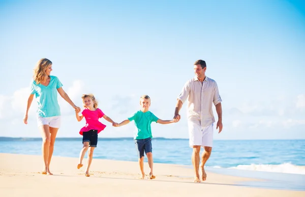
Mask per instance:
[[[144,179],[145,173],[143,169],[143,163],[144,163],[144,151],[147,156],[148,165],[150,168],[149,178],[154,179],[156,176],[154,176],[153,173],[153,148],[151,147],[151,138],[153,137],[151,135],[151,128],[150,124],[151,122],[157,122],[160,124],[170,124],[170,123],[176,123],[178,121],[171,120],[171,121],[163,121],[161,119],[158,119],[153,113],[151,113],[148,108],[150,106],[150,98],[148,95],[143,95],[140,98],[140,105],[141,110],[137,111],[135,114],[133,114],[131,117],[129,117],[127,120],[119,123],[114,124],[114,127],[120,127],[123,125],[126,125],[130,123],[131,121],[135,121],[135,125],[137,127],[136,132],[134,133],[134,140],[136,149],[139,156],[139,165],[140,170],[142,173],[142,176],[140,179]]]

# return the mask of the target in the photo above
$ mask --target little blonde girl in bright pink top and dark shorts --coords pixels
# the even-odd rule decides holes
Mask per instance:
[[[89,177],[89,168],[92,162],[93,151],[98,144],[98,133],[103,131],[106,127],[106,125],[99,122],[99,119],[104,117],[104,119],[112,123],[112,125],[116,123],[114,123],[110,117],[105,115],[103,111],[98,108],[98,101],[95,99],[93,94],[83,94],[81,98],[85,109],[81,112],[81,116],[78,115],[80,109],[75,109],[76,119],[79,122],[83,119],[83,117],[85,117],[86,126],[81,128],[79,131],[79,134],[83,136],[83,148],[79,154],[79,163],[77,165],[77,169],[80,169],[83,166],[82,160],[86,151],[90,147],[88,151],[87,168],[85,172],[85,175]]]

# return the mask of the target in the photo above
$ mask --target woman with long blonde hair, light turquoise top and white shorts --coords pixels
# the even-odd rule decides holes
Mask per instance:
[[[31,94],[27,100],[27,108],[23,122],[27,124],[27,114],[32,104],[34,95],[38,102],[37,122],[42,135],[42,156],[44,159],[44,169],[42,174],[52,175],[50,172],[50,162],[54,149],[54,142],[57,131],[60,127],[60,108],[57,101],[57,92],[74,109],[80,110],[63,90],[63,84],[56,76],[50,75],[52,62],[43,58],[37,62],[34,69],[33,82],[31,83]]]

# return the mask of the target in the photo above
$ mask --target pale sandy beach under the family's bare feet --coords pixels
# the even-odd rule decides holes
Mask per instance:
[[[137,162],[94,159],[90,177],[77,158],[53,156],[51,172],[42,175],[40,155],[0,153],[1,196],[305,196],[305,191],[250,187],[263,181],[207,172],[207,181],[193,183],[193,169],[155,164],[156,179],[138,179]],[[147,163],[145,173],[149,173]]]

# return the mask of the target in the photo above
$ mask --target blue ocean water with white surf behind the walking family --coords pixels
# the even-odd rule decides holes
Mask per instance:
[[[0,137],[0,152],[41,155],[41,141]],[[188,139],[153,138],[152,144],[154,163],[192,168]],[[81,138],[56,138],[53,155],[78,157],[81,148]],[[132,138],[99,138],[94,158],[138,161]],[[212,172],[243,177],[271,176],[273,183],[268,188],[305,190],[305,140],[215,140],[206,167]],[[281,184],[277,186],[276,182]]]

